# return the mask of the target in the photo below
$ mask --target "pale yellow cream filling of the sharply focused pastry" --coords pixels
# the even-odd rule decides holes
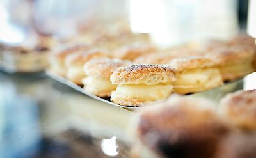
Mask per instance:
[[[172,93],[172,85],[170,84],[127,84],[118,85],[116,91],[113,91],[111,98],[137,98],[148,99],[149,101],[163,100]]]

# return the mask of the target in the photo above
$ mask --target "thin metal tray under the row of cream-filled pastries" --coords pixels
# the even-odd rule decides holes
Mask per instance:
[[[244,80],[246,79],[247,84],[248,84],[248,82],[252,82],[253,77],[254,78],[256,77],[255,73],[247,75],[246,77],[243,77],[241,79],[237,79],[236,81],[225,83],[223,86],[212,88],[211,90],[203,91],[203,92],[200,92],[200,93],[185,95],[184,97],[204,97],[204,98],[210,99],[214,102],[219,102],[222,97],[227,95],[227,93],[232,93],[232,92],[237,91],[237,90],[246,89],[244,87],[244,85],[246,85],[246,83],[244,83]],[[63,83],[63,84],[65,84],[65,85],[67,85],[71,88],[74,88],[75,90],[83,93],[84,95],[88,95],[89,97],[92,97],[93,99],[97,99],[101,102],[105,102],[105,103],[110,104],[112,106],[122,107],[122,108],[129,109],[129,110],[144,107],[144,106],[141,106],[141,107],[120,106],[118,104],[115,104],[115,103],[111,102],[109,98],[100,98],[100,97],[97,97],[96,95],[93,95],[92,93],[89,93],[88,91],[84,90],[81,86],[78,86],[77,84],[72,83],[71,81],[69,81],[65,77],[62,77],[61,75],[58,75],[54,72],[51,72],[51,70],[47,70],[46,74],[49,77],[51,77],[52,79],[54,79],[54,80],[56,80],[60,83]],[[254,88],[256,88],[256,87],[254,87]],[[251,87],[250,89],[253,89],[253,87]],[[148,104],[147,106],[150,106],[150,104]]]

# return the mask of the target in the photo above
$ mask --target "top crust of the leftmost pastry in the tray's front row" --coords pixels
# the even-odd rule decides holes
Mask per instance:
[[[55,51],[54,54],[52,54],[55,58],[61,58],[64,59],[68,54],[72,54],[74,52],[83,52],[90,49],[88,45],[74,45],[72,47],[66,46],[61,47],[57,51]]]

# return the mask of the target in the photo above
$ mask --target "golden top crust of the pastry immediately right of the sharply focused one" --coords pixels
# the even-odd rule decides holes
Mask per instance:
[[[193,68],[214,67],[216,62],[211,56],[189,56],[171,60],[168,65],[174,68],[175,72],[191,70]]]

